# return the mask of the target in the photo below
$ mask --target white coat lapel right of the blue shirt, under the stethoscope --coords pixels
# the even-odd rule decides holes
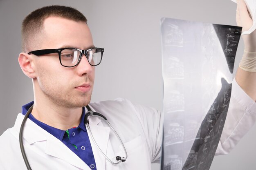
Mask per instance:
[[[101,152],[97,148],[96,144],[94,144],[92,135],[94,137],[94,140],[98,144],[99,148],[106,155],[110,128],[102,126],[101,119],[99,119],[98,117],[91,117],[89,126],[90,126],[92,134],[90,134],[87,127],[86,127],[86,129],[87,129],[90,143],[92,146],[92,151],[93,151],[94,159],[96,162],[97,170],[105,170],[106,158],[104,157],[104,155],[101,154]]]

